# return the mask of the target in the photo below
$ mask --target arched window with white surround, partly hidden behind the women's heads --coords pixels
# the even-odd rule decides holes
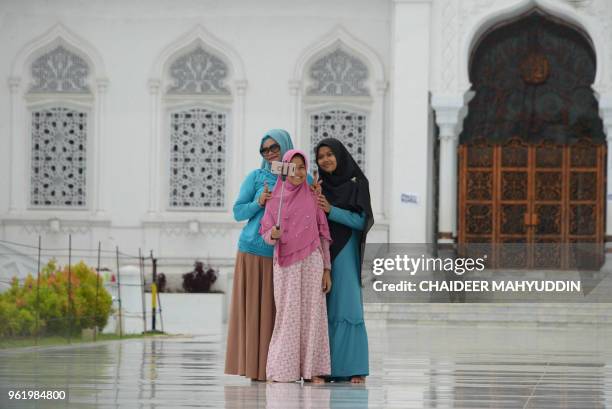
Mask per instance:
[[[314,147],[337,138],[370,180],[372,209],[384,220],[385,68],[375,51],[337,27],[306,48],[296,61],[289,92],[293,96],[293,132],[297,144]]]

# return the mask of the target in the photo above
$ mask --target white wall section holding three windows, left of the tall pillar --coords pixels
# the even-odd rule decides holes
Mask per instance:
[[[81,248],[95,249],[101,241],[106,250],[118,246],[129,254],[137,254],[139,248],[147,252],[153,249],[157,257],[178,271],[191,266],[195,258],[221,266],[231,263],[242,227],[233,220],[231,205],[243,177],[260,164],[258,147],[263,133],[270,128],[288,129],[294,141],[303,141],[300,147],[310,153],[308,136],[299,135],[307,128],[298,129],[297,122],[302,118],[296,118],[290,86],[290,81],[296,79],[300,57],[316,48],[322,39],[346,33],[359,44],[360,57],[376,59],[367,64],[377,66],[379,80],[384,82],[389,59],[390,7],[388,1],[3,2],[2,238],[36,245],[40,234],[44,247],[65,248],[67,236],[72,234],[73,244]],[[342,35],[345,34],[338,34],[338,39]],[[88,206],[84,210],[33,209],[29,205],[30,102],[25,97],[28,63],[33,54],[40,52],[37,46],[48,47],[55,37],[68,39],[74,51],[87,57],[92,66],[100,65],[94,69],[92,96],[86,102],[91,118],[87,158],[91,175],[87,180]],[[226,203],[223,209],[208,212],[169,211],[163,179],[169,163],[163,148],[167,148],[167,109],[172,104],[162,95],[157,109],[151,108],[151,80],[161,80],[159,92],[163,94],[164,79],[155,76],[157,68],[168,63],[163,59],[169,48],[180,46],[183,40],[188,44],[197,39],[205,46],[211,45],[206,44],[208,40],[214,42],[212,48],[232,70],[228,84],[231,102],[224,105],[229,112]],[[16,77],[20,81],[13,85],[11,93],[9,79],[14,84]],[[372,80],[373,93],[375,85]],[[49,100],[55,97],[58,96]],[[367,106],[370,112],[378,109],[375,121],[380,126],[367,135],[373,149],[382,147],[385,137],[384,98],[383,91],[378,108]],[[185,100],[187,105],[197,103]],[[336,103],[330,101],[332,105]],[[152,148],[155,132],[159,144]],[[12,138],[14,133],[17,135]],[[380,163],[380,158],[370,162]],[[382,181],[381,173],[371,177]],[[149,188],[150,179],[153,189]],[[94,186],[95,182],[98,183]],[[155,197],[150,198],[150,194]],[[377,196],[382,194],[380,189]],[[377,219],[384,220],[382,198],[376,201]],[[373,236],[386,240],[386,226],[377,227]]]

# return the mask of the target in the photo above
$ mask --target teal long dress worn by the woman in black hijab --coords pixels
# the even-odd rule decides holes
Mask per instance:
[[[366,218],[332,206],[329,220],[353,229],[351,238],[332,263],[332,289],[327,294],[331,377],[367,376],[368,334],[359,277],[359,245]]]

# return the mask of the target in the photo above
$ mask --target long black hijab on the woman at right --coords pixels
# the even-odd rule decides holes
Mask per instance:
[[[335,138],[323,139],[315,148],[315,159],[322,146],[330,148],[336,157],[336,170],[332,173],[325,172],[317,162],[319,174],[323,180],[323,194],[327,201],[335,207],[360,214],[365,213],[366,216],[366,223],[361,232],[359,245],[359,267],[361,268],[366,236],[374,224],[368,178],[365,177],[359,165],[357,165],[357,162],[355,162],[355,159],[353,159],[342,142]],[[343,224],[333,222],[329,218],[328,222],[333,240],[330,247],[331,259],[333,261],[351,238],[352,229]],[[359,276],[361,276],[361,271]]]

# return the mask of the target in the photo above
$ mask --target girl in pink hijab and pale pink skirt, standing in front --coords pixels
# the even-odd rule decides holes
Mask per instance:
[[[266,373],[268,380],[277,382],[303,378],[323,383],[331,372],[325,305],[325,294],[331,289],[331,237],[325,213],[306,181],[306,154],[292,149],[283,161],[295,163],[295,176],[287,176],[284,182],[279,176],[259,230],[274,245],[276,318]],[[280,229],[276,226],[279,206]]]

